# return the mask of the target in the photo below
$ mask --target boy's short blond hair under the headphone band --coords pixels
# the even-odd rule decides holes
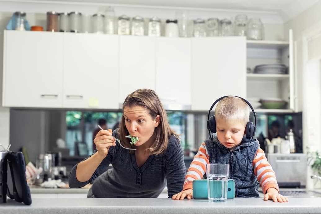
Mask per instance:
[[[215,120],[246,123],[250,112],[247,103],[238,97],[229,96],[221,99],[215,108]]]

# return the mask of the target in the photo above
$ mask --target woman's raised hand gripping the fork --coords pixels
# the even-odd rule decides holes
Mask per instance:
[[[100,130],[94,139],[96,144],[97,154],[105,158],[108,154],[110,146],[116,146],[116,139],[112,136],[112,130]]]

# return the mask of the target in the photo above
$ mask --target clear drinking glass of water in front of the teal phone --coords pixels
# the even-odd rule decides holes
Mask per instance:
[[[226,201],[229,169],[229,164],[206,164],[208,201]]]

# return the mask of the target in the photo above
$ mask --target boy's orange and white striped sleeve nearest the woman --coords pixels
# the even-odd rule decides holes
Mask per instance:
[[[183,190],[193,189],[193,180],[203,178],[203,175],[206,173],[206,164],[208,163],[208,152],[203,142],[187,170]]]

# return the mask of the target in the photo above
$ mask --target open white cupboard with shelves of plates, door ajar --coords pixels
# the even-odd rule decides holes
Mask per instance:
[[[292,30],[289,41],[247,40],[247,67],[259,64],[282,63],[289,69],[287,74],[247,74],[247,97],[258,99],[280,98],[288,102],[285,109],[262,109],[256,112],[286,113],[297,111],[295,75],[293,70]]]

